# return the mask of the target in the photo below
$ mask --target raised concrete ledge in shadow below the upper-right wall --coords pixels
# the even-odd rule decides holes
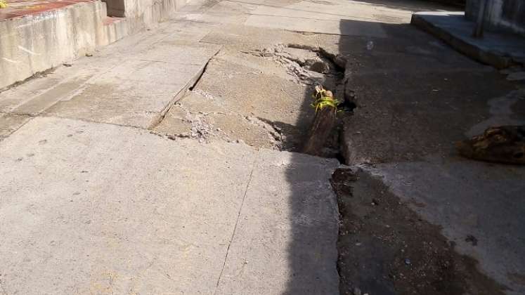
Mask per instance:
[[[485,32],[484,38],[476,39],[472,37],[474,22],[467,20],[465,13],[414,13],[412,24],[481,63],[499,69],[525,63],[525,39],[491,32]]]

